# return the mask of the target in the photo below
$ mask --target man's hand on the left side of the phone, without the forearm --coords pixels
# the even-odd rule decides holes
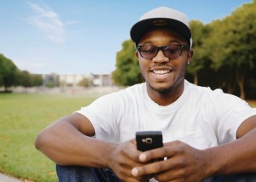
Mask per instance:
[[[131,139],[119,145],[113,145],[108,151],[108,168],[122,181],[139,182],[148,181],[152,175],[132,176],[131,169],[142,166],[143,163],[139,161],[141,151],[137,151],[136,140]]]

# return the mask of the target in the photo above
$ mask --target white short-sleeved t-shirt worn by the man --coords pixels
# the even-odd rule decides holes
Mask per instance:
[[[141,83],[107,94],[77,111],[95,128],[96,139],[125,142],[136,131],[160,130],[164,142],[181,140],[206,149],[236,139],[241,122],[256,115],[244,100],[187,81],[181,97],[171,105],[154,103]]]

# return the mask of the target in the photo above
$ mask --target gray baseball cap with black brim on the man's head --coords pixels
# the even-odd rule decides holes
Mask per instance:
[[[168,27],[177,31],[188,41],[189,47],[192,45],[189,20],[186,15],[167,7],[160,7],[148,11],[131,27],[130,35],[134,43],[138,43],[141,37],[154,27]]]

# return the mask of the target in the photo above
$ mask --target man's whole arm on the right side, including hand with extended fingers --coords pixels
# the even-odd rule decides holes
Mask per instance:
[[[157,173],[154,177],[166,181],[201,181],[209,176],[230,173],[256,172],[256,116],[247,118],[237,131],[236,141],[197,150],[179,141],[167,143],[163,148],[145,151],[141,162],[154,158],[167,157],[166,161],[153,162],[133,168],[135,176]]]

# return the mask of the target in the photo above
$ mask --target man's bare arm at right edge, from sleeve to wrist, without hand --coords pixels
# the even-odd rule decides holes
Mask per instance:
[[[256,161],[256,116],[249,117],[242,122],[236,135],[236,141],[212,148],[210,151],[213,156],[212,160],[216,161],[215,165],[218,167],[213,168],[213,172],[256,172],[256,163],[254,162]]]

